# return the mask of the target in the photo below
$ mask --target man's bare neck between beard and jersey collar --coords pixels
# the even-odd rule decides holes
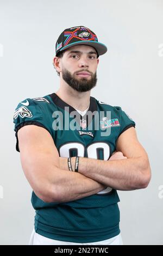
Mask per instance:
[[[56,94],[68,105],[80,111],[84,111],[90,104],[90,91],[80,93],[68,86],[68,84],[60,84],[60,88]]]

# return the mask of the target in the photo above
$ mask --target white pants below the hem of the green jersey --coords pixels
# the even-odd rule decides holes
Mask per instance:
[[[75,242],[66,242],[60,240],[54,240],[47,238],[45,236],[39,235],[33,229],[30,236],[29,245],[123,245],[121,234],[114,236],[110,239],[106,239],[98,242],[91,243],[75,243]]]

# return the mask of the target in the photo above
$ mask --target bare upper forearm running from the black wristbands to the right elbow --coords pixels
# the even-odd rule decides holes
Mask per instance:
[[[112,161],[80,157],[78,172],[117,190],[135,190],[146,187],[148,168],[141,157]]]

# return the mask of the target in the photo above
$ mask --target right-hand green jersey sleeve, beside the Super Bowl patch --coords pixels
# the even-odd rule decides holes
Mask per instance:
[[[119,137],[121,135],[121,133],[123,133],[130,127],[135,128],[135,121],[133,119],[131,119],[129,117],[129,115],[122,110],[121,107],[116,106],[115,108],[117,109],[117,111],[119,112],[119,115],[120,115],[120,131],[118,133],[118,137]]]

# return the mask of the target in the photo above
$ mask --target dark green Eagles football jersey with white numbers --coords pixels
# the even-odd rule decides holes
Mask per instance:
[[[100,160],[109,160],[116,150],[118,136],[129,127],[135,127],[135,122],[119,106],[90,97],[89,109],[82,117],[55,93],[20,102],[14,123],[17,151],[17,131],[24,125],[37,125],[51,134],[59,156]],[[43,202],[33,191],[35,231],[50,239],[70,242],[109,239],[120,233],[119,201],[117,191],[110,187],[66,203]]]

